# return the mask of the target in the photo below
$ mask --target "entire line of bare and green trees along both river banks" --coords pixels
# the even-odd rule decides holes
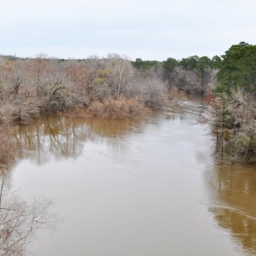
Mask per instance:
[[[2,56],[0,124],[26,124],[42,113],[74,109],[124,119],[147,108],[164,108],[181,99],[181,91],[208,93],[211,109],[205,120],[212,123],[220,148],[254,161],[255,62],[255,45],[244,42],[221,57],[195,55],[180,61],[130,61],[116,54],[84,60]]]

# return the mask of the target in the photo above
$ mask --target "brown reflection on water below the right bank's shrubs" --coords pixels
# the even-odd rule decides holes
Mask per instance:
[[[214,218],[234,241],[256,254],[256,168],[218,159],[207,173]]]

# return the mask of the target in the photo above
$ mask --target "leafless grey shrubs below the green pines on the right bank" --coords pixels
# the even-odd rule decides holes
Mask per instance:
[[[255,96],[233,90],[230,96],[207,95],[208,115],[202,121],[212,124],[217,143],[231,146],[231,151],[246,160],[256,160]]]

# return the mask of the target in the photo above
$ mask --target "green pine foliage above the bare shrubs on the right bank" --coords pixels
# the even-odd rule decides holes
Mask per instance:
[[[232,89],[239,88],[256,93],[256,45],[234,44],[222,58],[215,93],[230,95]]]

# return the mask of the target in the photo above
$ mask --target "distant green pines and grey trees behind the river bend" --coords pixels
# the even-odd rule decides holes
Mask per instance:
[[[189,56],[178,61],[167,58],[166,61],[143,61],[138,58],[132,61],[132,65],[141,72],[147,73],[158,70],[161,79],[168,83],[169,87],[177,87],[192,94],[205,94],[217,83],[216,74],[222,59],[215,55],[210,59],[207,56]]]

